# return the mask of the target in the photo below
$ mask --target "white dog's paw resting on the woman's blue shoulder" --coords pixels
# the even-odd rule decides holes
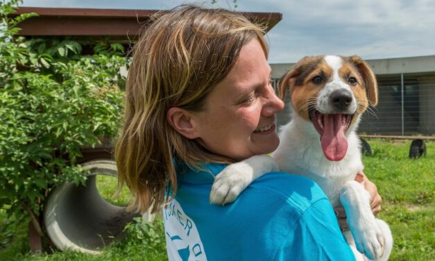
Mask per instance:
[[[229,165],[214,178],[210,203],[218,205],[232,203],[252,181],[252,168],[244,162]]]

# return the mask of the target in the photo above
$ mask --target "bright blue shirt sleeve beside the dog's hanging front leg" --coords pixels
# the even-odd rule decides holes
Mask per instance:
[[[274,260],[355,260],[327,199],[313,203],[293,226]]]

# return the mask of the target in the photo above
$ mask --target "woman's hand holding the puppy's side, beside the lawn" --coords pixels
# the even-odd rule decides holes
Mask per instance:
[[[381,203],[382,198],[379,194],[377,194],[376,185],[368,180],[366,174],[363,171],[360,171],[357,176],[355,176],[355,180],[364,185],[364,188],[370,194],[370,206],[372,208],[373,214],[377,215],[381,211]],[[340,230],[341,232],[349,229],[348,222],[346,221],[346,212],[343,207],[334,208],[334,212],[336,218],[339,220]]]

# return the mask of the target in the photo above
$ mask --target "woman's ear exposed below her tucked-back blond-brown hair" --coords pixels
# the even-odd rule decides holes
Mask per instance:
[[[196,139],[199,137],[191,112],[179,107],[171,107],[167,112],[167,121],[172,128],[184,137],[187,137],[187,139]]]

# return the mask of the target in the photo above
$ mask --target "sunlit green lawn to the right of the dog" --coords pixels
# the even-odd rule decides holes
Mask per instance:
[[[369,140],[372,157],[364,157],[364,172],[382,196],[378,217],[390,224],[394,246],[390,260],[434,260],[435,142],[427,156],[407,158],[410,141]]]

